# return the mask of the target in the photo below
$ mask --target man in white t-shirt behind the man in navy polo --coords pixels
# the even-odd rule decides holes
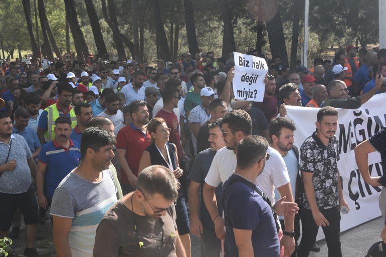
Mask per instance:
[[[222,215],[218,213],[217,202],[213,199],[216,187],[221,182],[225,182],[236,168],[237,146],[244,137],[252,133],[251,117],[244,110],[234,110],[227,113],[223,118],[222,130],[226,148],[222,148],[216,153],[205,178],[203,194],[205,205],[215,223],[216,235],[224,240],[225,221]],[[282,196],[285,195],[288,201],[293,201],[288,171],[283,158],[272,147],[268,148],[267,153],[270,155],[269,160],[267,159],[264,170],[256,179],[256,183],[267,194],[272,204],[275,203],[275,188],[278,188],[280,193],[283,192]],[[217,217],[218,215],[220,217]],[[293,231],[293,222],[293,216],[292,218],[291,216],[285,216],[285,223],[288,229],[292,229],[291,231]],[[283,236],[281,243],[284,245],[286,252],[295,248],[295,241],[290,236]]]

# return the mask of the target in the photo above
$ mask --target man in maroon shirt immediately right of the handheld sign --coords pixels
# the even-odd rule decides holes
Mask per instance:
[[[268,77],[265,84],[263,102],[253,102],[252,106],[260,109],[269,123],[278,114],[278,101],[275,96],[276,81],[273,76]]]

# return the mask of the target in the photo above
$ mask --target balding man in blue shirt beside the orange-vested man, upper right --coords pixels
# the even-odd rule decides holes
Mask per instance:
[[[352,83],[352,96],[357,96],[363,89],[364,85],[370,81],[370,78],[368,77],[368,70],[371,66],[377,63],[377,54],[375,52],[367,52],[364,57],[364,64],[355,73],[354,81]]]

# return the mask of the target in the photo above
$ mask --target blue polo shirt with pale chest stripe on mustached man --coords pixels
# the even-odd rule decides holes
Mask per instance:
[[[68,148],[59,145],[57,139],[43,145],[39,162],[47,165],[44,181],[44,194],[52,198],[55,189],[71,170],[79,165],[80,145],[70,139]]]

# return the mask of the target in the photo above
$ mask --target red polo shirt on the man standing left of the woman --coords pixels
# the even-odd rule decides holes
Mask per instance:
[[[135,176],[138,176],[139,161],[142,157],[143,151],[151,144],[150,134],[146,134],[131,123],[125,126],[118,132],[117,149],[126,150],[126,161]],[[129,184],[126,173],[121,171],[121,183]]]

